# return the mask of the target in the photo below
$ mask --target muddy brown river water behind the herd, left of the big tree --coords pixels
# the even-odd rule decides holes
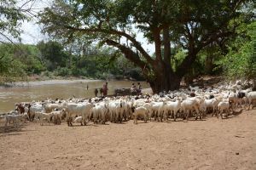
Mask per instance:
[[[95,88],[102,88],[103,81],[43,81],[24,83],[23,87],[0,88],[0,113],[14,110],[15,103],[38,101],[47,98],[68,99],[94,97]],[[108,94],[113,94],[115,88],[131,88],[131,81],[108,82]],[[135,82],[137,84],[137,82]],[[149,88],[147,82],[141,82],[143,88]],[[87,90],[86,87],[89,87]]]

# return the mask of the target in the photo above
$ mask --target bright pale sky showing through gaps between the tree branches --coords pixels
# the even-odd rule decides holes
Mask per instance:
[[[21,0],[20,3],[24,3],[27,0]],[[34,0],[34,3],[32,4],[32,8],[34,9],[34,13],[38,13],[40,10],[49,7],[52,0]],[[31,4],[28,4],[31,5]],[[32,18],[30,21],[25,21],[22,23],[21,30],[23,33],[21,33],[20,38],[22,43],[26,44],[36,44],[42,40],[48,41],[50,37],[45,36],[43,33],[41,33],[42,26],[39,26],[37,24],[38,20],[36,18]],[[145,41],[143,38],[142,33],[137,33],[137,41],[142,43],[143,48],[148,51],[149,54],[154,53],[154,44],[150,44]],[[124,40],[125,42],[125,40]]]

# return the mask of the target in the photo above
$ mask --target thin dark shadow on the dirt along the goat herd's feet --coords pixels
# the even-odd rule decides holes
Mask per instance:
[[[211,116],[211,115],[207,115],[206,117],[204,117],[203,119],[197,119],[195,120],[195,118],[192,118],[190,117],[189,118],[189,121],[186,121],[186,120],[183,120],[183,119],[177,119],[176,122],[174,122],[173,120],[167,120],[167,121],[163,121],[162,123],[166,122],[166,123],[177,123],[177,122],[205,122],[207,121],[207,119],[220,119],[220,120],[228,120],[228,119],[232,119],[232,118],[235,118],[235,117],[238,117],[239,115],[241,114],[241,111],[234,111],[234,113],[230,116],[227,116],[227,117],[223,117],[221,118],[221,116],[218,116],[218,118],[216,116]],[[130,120],[130,121],[133,121],[133,120]],[[119,124],[119,125],[125,125],[127,124],[128,121],[124,121],[124,122],[117,122],[117,123],[114,123],[114,124]],[[148,122],[151,122],[151,123],[160,123],[158,121],[154,121],[153,120],[148,120]],[[144,124],[144,123],[148,123],[148,122],[144,122],[143,120],[140,120],[137,122],[137,124]],[[64,122],[63,122],[64,123]],[[12,125],[9,125],[7,127],[4,126],[3,123],[1,123],[2,126],[0,126],[0,137],[2,136],[6,136],[6,135],[20,135],[22,134],[23,132],[27,132],[27,131],[33,131],[33,130],[25,130],[24,127],[28,126],[30,123],[23,123],[21,124],[19,127],[14,127]],[[110,125],[111,122],[108,122],[108,123],[105,123],[105,124],[102,124],[102,123],[87,123],[86,126],[89,126],[89,127],[100,127],[100,126],[108,126]],[[44,126],[57,126],[57,125],[49,125],[49,124],[44,124]],[[84,127],[84,126],[81,126],[80,124],[73,124],[72,127]]]

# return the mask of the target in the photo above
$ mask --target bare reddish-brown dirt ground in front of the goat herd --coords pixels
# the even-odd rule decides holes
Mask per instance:
[[[0,129],[0,169],[256,169],[256,110],[204,121]]]

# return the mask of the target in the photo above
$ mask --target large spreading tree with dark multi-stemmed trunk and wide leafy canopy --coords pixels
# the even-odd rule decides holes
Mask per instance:
[[[72,40],[87,37],[118,48],[138,65],[154,93],[179,88],[201,49],[234,35],[246,0],[55,0],[40,14],[44,31]],[[137,40],[154,43],[154,56]],[[120,39],[125,38],[127,43]],[[186,52],[173,67],[171,47]]]

